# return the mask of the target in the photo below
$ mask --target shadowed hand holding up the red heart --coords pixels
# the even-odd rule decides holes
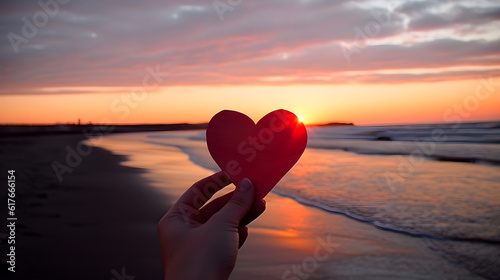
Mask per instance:
[[[222,171],[196,182],[160,220],[165,279],[229,278],[238,248],[248,236],[246,225],[265,210],[264,200],[254,201],[255,189],[248,179],[201,207],[229,183]]]

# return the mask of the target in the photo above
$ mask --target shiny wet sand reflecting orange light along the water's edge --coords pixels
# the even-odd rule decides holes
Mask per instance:
[[[134,134],[126,139],[110,136],[103,146],[129,155],[128,166],[146,167],[151,181],[178,182],[168,188],[153,183],[173,197],[214,173],[190,161],[179,148],[145,143],[146,135]],[[152,155],[145,155],[148,153]],[[313,273],[306,275],[308,279],[445,279],[450,275],[483,279],[436,255],[423,245],[423,238],[382,230],[273,192],[266,200],[267,210],[249,225],[249,238],[230,279],[305,279],[298,274],[287,278],[283,273],[310,260],[318,238],[332,238],[339,246],[326,261],[318,262]]]

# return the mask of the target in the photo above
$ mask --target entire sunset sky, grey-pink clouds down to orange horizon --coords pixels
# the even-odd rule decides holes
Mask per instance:
[[[0,124],[500,120],[500,1],[2,1]]]

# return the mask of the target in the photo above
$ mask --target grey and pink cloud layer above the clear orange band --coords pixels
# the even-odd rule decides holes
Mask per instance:
[[[171,73],[168,85],[392,83],[500,70],[495,1],[241,1],[223,21],[210,1],[69,1],[31,38],[23,26],[44,9],[9,2],[0,9],[0,94],[138,86],[156,65]],[[18,53],[8,34],[27,41]]]

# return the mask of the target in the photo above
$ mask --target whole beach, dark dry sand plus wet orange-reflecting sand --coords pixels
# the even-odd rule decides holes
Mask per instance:
[[[173,142],[158,145],[161,135]],[[187,135],[198,132],[87,141],[92,151],[62,182],[52,163],[64,163],[66,147],[76,149],[85,138],[2,139],[2,170],[16,169],[19,178],[13,279],[119,279],[123,273],[162,279],[156,224],[191,184],[214,173],[194,152],[201,153],[203,145],[185,141]],[[266,201],[230,279],[486,279],[437,254],[428,238],[381,229],[277,192]]]

